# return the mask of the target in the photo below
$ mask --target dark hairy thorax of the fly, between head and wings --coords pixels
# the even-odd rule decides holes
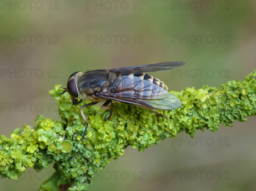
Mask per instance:
[[[95,97],[96,93],[108,86],[108,70],[93,70],[85,72],[78,81],[82,96]],[[95,100],[95,99],[93,99]]]

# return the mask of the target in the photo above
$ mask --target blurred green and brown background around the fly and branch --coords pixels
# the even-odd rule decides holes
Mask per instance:
[[[180,91],[243,80],[255,68],[253,0],[0,3],[0,130],[6,136],[39,114],[59,120],[48,92],[65,86],[75,71],[185,61],[154,73]],[[195,139],[180,133],[143,153],[128,147],[89,190],[255,190],[256,118],[247,118],[217,132],[198,130]],[[28,169],[18,181],[1,178],[0,190],[37,190],[53,172],[51,165],[40,173]]]

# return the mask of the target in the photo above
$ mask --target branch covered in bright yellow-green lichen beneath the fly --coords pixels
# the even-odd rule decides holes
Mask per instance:
[[[40,171],[54,162],[56,172],[40,190],[86,190],[94,173],[101,171],[110,158],[124,155],[128,145],[144,151],[181,131],[193,137],[197,129],[217,131],[220,124],[232,126],[235,120],[246,121],[244,117],[256,115],[255,70],[243,81],[228,81],[220,89],[204,86],[170,91],[183,104],[175,110],[158,111],[165,118],[145,108],[114,103],[108,121],[108,109],[86,108],[89,128],[81,141],[84,123],[80,106],[72,105],[69,94],[59,95],[61,91],[59,85],[50,91],[57,100],[61,121],[38,116],[34,128],[23,125],[22,133],[17,128],[10,138],[0,136],[2,177],[17,180],[27,167]]]

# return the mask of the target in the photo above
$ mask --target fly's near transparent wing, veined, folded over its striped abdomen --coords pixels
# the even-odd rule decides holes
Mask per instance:
[[[103,99],[160,110],[171,110],[181,105],[181,101],[164,88],[140,77],[120,76],[114,83],[115,88],[100,91],[97,95]]]

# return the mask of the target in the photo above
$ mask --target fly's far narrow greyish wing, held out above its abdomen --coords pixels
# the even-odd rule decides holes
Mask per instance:
[[[165,62],[165,63],[156,63],[148,64],[141,66],[127,66],[122,68],[113,68],[109,71],[122,71],[122,74],[140,74],[143,72],[152,72],[152,71],[161,71],[161,70],[170,70],[172,68],[184,65],[184,62]]]

